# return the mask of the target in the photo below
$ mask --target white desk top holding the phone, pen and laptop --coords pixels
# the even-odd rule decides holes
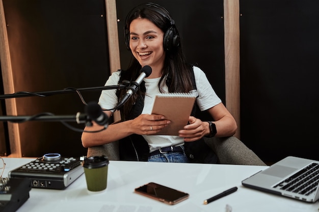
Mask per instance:
[[[34,159],[4,158],[9,170]],[[111,161],[108,187],[102,192],[89,192],[84,174],[65,190],[32,189],[30,198],[17,210],[32,212],[157,212],[157,211],[226,211],[226,204],[238,211],[316,211],[319,204],[304,203],[273,194],[245,188],[241,181],[260,171],[263,166],[177,164]],[[189,199],[176,205],[144,197],[134,189],[153,181],[190,194]],[[203,201],[224,190],[238,190],[207,205]]]

